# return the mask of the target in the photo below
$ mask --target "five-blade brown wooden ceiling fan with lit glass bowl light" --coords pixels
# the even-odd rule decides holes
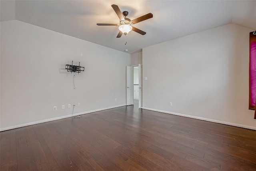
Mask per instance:
[[[120,31],[119,31],[118,35],[116,36],[117,38],[120,38],[122,36],[122,34],[124,34],[124,35],[128,34],[128,32],[130,32],[131,30],[134,32],[137,32],[139,34],[142,34],[142,35],[146,34],[146,32],[144,32],[136,27],[133,27],[132,25],[152,18],[153,17],[152,13],[148,13],[148,14],[146,14],[144,16],[140,16],[134,20],[130,20],[129,18],[126,18],[126,16],[128,16],[127,11],[121,12],[119,7],[115,4],[113,4],[111,6],[114,9],[114,11],[116,12],[118,18],[120,19],[120,24],[100,24],[100,23],[98,23],[97,24],[98,26],[118,26]]]

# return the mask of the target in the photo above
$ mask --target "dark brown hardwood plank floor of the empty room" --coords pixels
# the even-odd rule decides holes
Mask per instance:
[[[1,171],[256,171],[256,131],[124,106],[0,133]]]

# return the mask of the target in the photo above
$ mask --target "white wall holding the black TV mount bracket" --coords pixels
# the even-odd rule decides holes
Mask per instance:
[[[1,22],[0,35],[1,130],[71,115],[68,103],[74,113],[125,105],[130,54],[17,20]],[[85,67],[76,89],[64,70],[72,60]]]

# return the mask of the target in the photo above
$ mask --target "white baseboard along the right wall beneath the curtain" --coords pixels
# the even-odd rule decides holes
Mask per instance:
[[[221,123],[221,124],[225,124],[225,125],[231,125],[231,126],[236,126],[236,127],[242,127],[242,128],[256,130],[256,127],[252,127],[252,126],[248,126],[248,125],[240,125],[240,124],[237,124],[237,123],[218,121],[218,120],[208,119],[208,118],[204,118],[204,117],[185,115],[185,114],[181,114],[181,113],[175,113],[175,112],[170,112],[170,111],[163,111],[163,110],[158,110],[158,109],[151,109],[151,108],[148,108],[148,107],[142,107],[142,109],[158,111],[158,112],[161,112],[161,113],[168,113],[168,114],[172,114],[172,115],[190,117],[190,118],[193,118],[193,119],[200,119],[200,120],[203,120],[203,121],[210,121],[210,122]]]

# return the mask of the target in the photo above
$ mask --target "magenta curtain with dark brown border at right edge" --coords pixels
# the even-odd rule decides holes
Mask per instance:
[[[255,110],[256,119],[256,31],[250,32],[250,64],[249,64],[249,109]]]

